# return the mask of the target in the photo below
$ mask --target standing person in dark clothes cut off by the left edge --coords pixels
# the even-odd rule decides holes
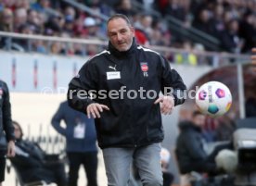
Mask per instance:
[[[0,186],[5,180],[6,155],[15,155],[14,141],[9,91],[6,82],[0,81]]]

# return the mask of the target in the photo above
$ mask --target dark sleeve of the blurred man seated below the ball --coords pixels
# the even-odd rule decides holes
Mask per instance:
[[[192,132],[186,132],[184,134],[186,149],[189,156],[193,159],[204,160],[206,158],[206,153],[202,149],[201,143],[198,142],[198,139]]]

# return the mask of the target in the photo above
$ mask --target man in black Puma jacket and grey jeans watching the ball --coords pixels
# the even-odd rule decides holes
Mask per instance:
[[[184,103],[186,85],[164,57],[136,45],[126,16],[114,15],[107,25],[109,49],[70,81],[69,104],[96,118],[109,186],[127,185],[133,161],[144,186],[161,186],[160,113]]]

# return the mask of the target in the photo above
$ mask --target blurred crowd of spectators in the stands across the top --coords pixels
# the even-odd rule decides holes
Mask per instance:
[[[205,50],[201,43],[193,43],[183,36],[174,35],[170,24],[164,19],[169,16],[180,20],[184,29],[193,27],[218,39],[221,51],[248,53],[256,43],[254,0],[136,0],[144,11],[134,8],[131,0],[76,2],[107,17],[114,13],[127,15],[133,21],[137,42],[146,46]],[[157,11],[159,16],[152,14],[152,11]],[[106,20],[70,6],[65,1],[3,0],[0,3],[0,14],[0,31],[107,41]],[[10,47],[8,44],[9,39],[2,37],[0,47]],[[45,43],[40,40],[11,41],[12,48],[40,53],[93,56],[99,50],[98,45],[84,46],[80,43]],[[181,60],[181,56],[174,57],[175,61]],[[192,65],[197,62],[195,56],[186,57]]]

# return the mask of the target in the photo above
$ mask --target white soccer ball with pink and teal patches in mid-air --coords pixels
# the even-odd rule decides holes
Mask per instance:
[[[196,93],[198,109],[211,117],[226,113],[232,104],[232,95],[224,83],[209,81],[201,85]]]

